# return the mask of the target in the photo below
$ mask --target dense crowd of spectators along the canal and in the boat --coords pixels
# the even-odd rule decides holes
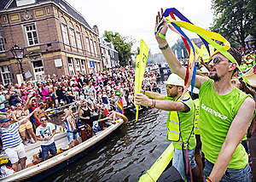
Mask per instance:
[[[143,88],[153,90],[156,72],[147,71],[145,75]],[[26,168],[24,145],[40,141],[45,160],[49,153],[57,153],[56,123],[67,132],[69,148],[78,145],[84,140],[79,139],[80,127],[86,128],[86,139],[114,123],[117,100],[124,107],[134,105],[134,77],[133,69],[119,68],[89,75],[46,76],[44,80],[26,81],[20,86],[12,82],[0,85],[0,149],[5,151],[15,171],[19,159],[21,169]],[[68,108],[63,110],[61,122],[53,121],[49,113],[62,105]]]

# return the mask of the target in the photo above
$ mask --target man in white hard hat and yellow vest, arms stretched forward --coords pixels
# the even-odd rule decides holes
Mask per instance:
[[[143,91],[143,94],[136,94],[135,100],[138,105],[169,111],[166,122],[166,139],[172,141],[174,146],[172,166],[177,168],[183,180],[187,179],[186,177],[189,175],[184,173],[186,170],[183,168],[185,162],[183,160],[188,157],[190,169],[192,169],[194,176],[198,177],[199,169],[194,158],[195,104],[188,93],[184,95],[183,100],[180,100],[184,88],[184,81],[181,77],[172,73],[165,84],[167,95]]]

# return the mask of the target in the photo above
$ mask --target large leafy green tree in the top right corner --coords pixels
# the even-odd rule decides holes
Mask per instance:
[[[255,0],[212,0],[211,31],[224,36],[233,47],[245,47],[244,39],[256,30]]]

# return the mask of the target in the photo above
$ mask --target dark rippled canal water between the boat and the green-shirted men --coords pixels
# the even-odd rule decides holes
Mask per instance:
[[[160,82],[161,93],[165,85]],[[149,109],[47,181],[137,181],[166,150],[167,111]]]

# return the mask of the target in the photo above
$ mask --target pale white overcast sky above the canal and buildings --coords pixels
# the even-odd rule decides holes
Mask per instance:
[[[212,25],[211,0],[66,0],[83,14],[92,27],[98,26],[100,36],[104,31],[117,31],[121,36],[137,40],[134,48],[143,39],[152,54],[160,53],[154,38],[155,15],[160,8],[176,8],[195,26],[208,28]],[[185,31],[188,32],[188,31]],[[189,38],[195,34],[187,34]],[[166,36],[169,44],[177,41],[178,35],[170,32]]]

